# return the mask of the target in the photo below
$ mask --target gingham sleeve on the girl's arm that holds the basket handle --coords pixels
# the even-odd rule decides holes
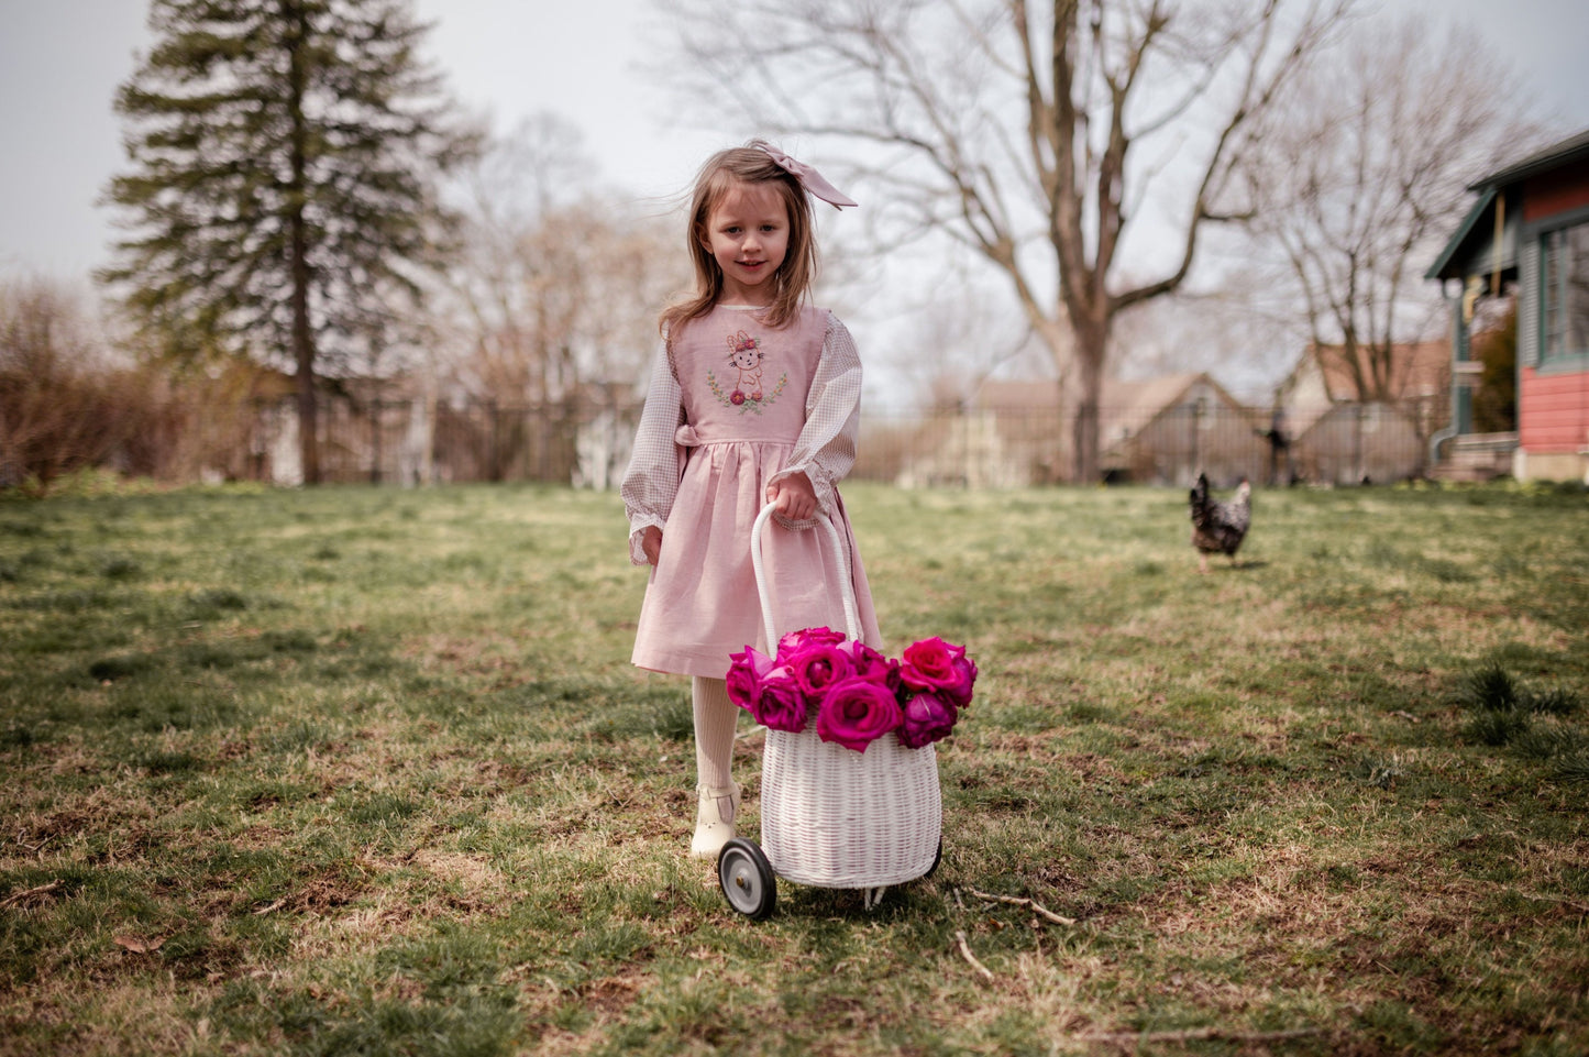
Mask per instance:
[[[855,466],[855,440],[860,432],[861,356],[855,351],[850,331],[829,313],[817,377],[806,397],[806,426],[794,440],[788,466],[774,474],[772,480],[806,474],[817,493],[817,509],[828,513],[834,488]]]

